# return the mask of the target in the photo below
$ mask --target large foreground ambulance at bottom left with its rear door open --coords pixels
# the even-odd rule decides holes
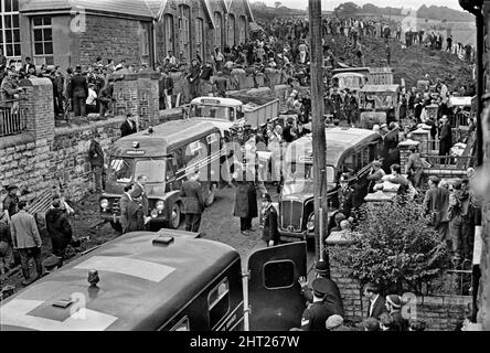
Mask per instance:
[[[298,278],[306,276],[306,244],[257,250],[247,270],[242,271],[236,249],[195,233],[128,233],[3,300],[0,331],[298,327],[305,310]]]

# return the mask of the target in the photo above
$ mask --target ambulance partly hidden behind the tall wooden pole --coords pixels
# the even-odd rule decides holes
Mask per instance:
[[[371,162],[383,152],[379,132],[355,128],[327,128],[324,186],[329,195],[329,217],[338,208],[337,191],[343,172],[351,183],[364,183]],[[313,153],[311,133],[289,143],[285,156],[285,181],[279,197],[279,233],[284,239],[306,239],[313,235]],[[368,191],[368,185],[365,188]],[[363,197],[364,195],[360,195]]]

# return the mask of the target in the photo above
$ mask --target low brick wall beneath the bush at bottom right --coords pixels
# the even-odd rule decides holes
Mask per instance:
[[[333,260],[330,269],[342,296],[345,320],[361,322],[366,317],[369,300],[363,297],[360,282],[351,277],[351,269]],[[470,302],[469,296],[420,296],[416,298],[416,318],[426,322],[427,331],[454,331]]]

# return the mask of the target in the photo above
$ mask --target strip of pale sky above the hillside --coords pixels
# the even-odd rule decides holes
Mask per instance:
[[[251,2],[254,2],[256,0],[249,0]],[[274,7],[274,3],[276,0],[259,0],[264,1],[267,6]],[[352,1],[359,6],[363,6],[364,3],[372,3],[376,7],[384,8],[384,7],[392,7],[392,8],[414,8],[418,9],[423,4],[426,4],[427,7],[434,4],[434,6],[445,6],[451,9],[461,10],[459,7],[458,0],[409,0],[409,1],[401,1],[401,0],[321,0],[321,9],[326,11],[331,11],[335,7],[338,7],[340,3]],[[408,2],[408,4],[407,4]],[[280,0],[280,3],[285,7],[291,8],[291,9],[306,9],[306,6],[308,3],[308,0]]]

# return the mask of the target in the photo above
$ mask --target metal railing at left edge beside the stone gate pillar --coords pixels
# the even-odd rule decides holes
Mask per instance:
[[[28,110],[21,99],[0,100],[0,137],[18,135],[28,127]]]

